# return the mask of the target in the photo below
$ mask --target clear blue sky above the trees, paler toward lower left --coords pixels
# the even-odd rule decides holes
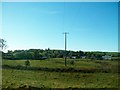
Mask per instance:
[[[117,2],[4,2],[2,38],[7,50],[118,51]]]

